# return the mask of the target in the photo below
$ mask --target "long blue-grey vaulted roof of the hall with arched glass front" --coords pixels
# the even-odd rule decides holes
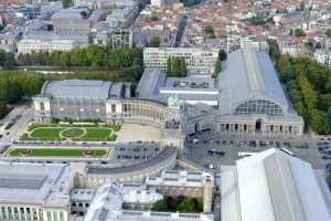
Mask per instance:
[[[220,104],[223,112],[231,112],[236,104],[253,97],[267,97],[278,103],[285,112],[288,101],[281,88],[274,64],[264,51],[250,46],[227,55],[224,70],[220,74]]]

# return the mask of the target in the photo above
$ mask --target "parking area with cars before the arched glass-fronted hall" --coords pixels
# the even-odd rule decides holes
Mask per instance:
[[[206,169],[218,168],[220,165],[235,165],[235,160],[241,159],[239,152],[258,152],[268,148],[285,148],[303,160],[309,161],[313,168],[325,168],[331,162],[331,141],[324,141],[323,148],[325,152],[321,152],[318,148],[318,140],[310,137],[284,138],[284,137],[259,137],[259,136],[232,136],[232,135],[212,135],[203,133],[195,136],[196,144],[191,141],[188,144],[185,157],[191,159]],[[327,144],[328,143],[328,144]],[[212,151],[221,152],[213,154]],[[330,159],[322,159],[329,156]]]

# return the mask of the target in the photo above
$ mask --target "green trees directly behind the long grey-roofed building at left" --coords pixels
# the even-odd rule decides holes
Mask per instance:
[[[33,72],[3,71],[0,74],[0,118],[10,110],[10,106],[19,103],[22,98],[30,98],[40,93],[45,81],[53,80],[103,80],[111,82],[130,82],[131,91],[136,90],[143,69],[139,65],[124,67],[111,72],[79,72],[72,74],[38,74]]]

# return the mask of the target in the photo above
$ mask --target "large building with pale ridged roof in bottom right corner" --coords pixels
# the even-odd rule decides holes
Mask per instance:
[[[311,165],[268,149],[221,167],[221,220],[328,221],[331,197]]]

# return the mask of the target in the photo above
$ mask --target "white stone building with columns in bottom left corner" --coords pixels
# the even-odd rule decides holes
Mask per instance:
[[[70,191],[81,166],[0,164],[0,220],[70,221]]]

